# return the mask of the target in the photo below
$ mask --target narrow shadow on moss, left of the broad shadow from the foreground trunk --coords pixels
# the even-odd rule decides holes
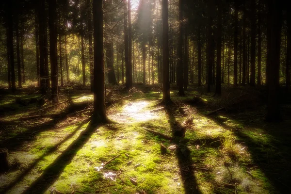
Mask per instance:
[[[73,131],[71,132],[68,136],[65,137],[62,141],[57,143],[56,145],[50,147],[48,151],[46,151],[44,154],[42,154],[38,159],[36,159],[28,168],[26,168],[17,178],[13,180],[9,185],[7,185],[1,192],[5,193],[11,188],[13,188],[18,182],[20,182],[41,160],[43,160],[46,156],[49,154],[52,154],[54,151],[58,149],[59,146],[61,146],[63,143],[65,143],[68,139],[73,137],[80,129],[81,127],[86,124],[89,121],[89,119],[85,119],[81,122],[81,124]]]

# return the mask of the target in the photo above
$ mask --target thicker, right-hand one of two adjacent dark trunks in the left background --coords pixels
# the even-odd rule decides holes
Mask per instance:
[[[51,77],[51,99],[58,102],[58,54],[57,54],[57,29],[56,29],[56,0],[48,0],[49,3],[49,56]]]

